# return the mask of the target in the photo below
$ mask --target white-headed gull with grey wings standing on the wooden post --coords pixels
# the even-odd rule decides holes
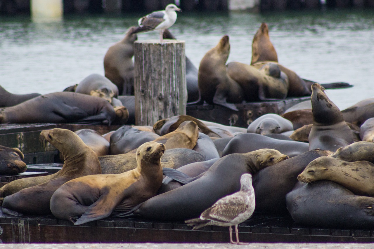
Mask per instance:
[[[171,3],[166,6],[165,10],[154,11],[143,16],[138,21],[139,27],[132,34],[159,30],[160,41],[163,42],[163,31],[170,28],[177,20],[177,13],[175,11],[181,11],[181,9]]]

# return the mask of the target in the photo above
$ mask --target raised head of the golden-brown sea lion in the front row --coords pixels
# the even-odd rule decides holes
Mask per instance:
[[[164,144],[158,142],[146,142],[137,149],[138,165],[160,164],[160,158],[164,154],[166,148]]]

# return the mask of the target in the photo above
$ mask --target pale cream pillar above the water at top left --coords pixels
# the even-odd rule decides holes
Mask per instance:
[[[62,0],[31,0],[31,17],[33,20],[62,19]]]

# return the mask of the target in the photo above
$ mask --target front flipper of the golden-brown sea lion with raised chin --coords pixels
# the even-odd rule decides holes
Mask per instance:
[[[111,215],[117,206],[116,198],[109,193],[102,194],[99,199],[86,209],[86,212],[77,219],[74,225],[81,225],[90,221],[104,219]]]

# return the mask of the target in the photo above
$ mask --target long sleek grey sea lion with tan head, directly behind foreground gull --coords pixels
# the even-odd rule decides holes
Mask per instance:
[[[239,191],[239,179],[243,173],[253,175],[285,159],[288,156],[272,149],[222,157],[199,179],[152,197],[128,213],[117,216],[131,215],[170,221],[197,217],[221,197]]]

